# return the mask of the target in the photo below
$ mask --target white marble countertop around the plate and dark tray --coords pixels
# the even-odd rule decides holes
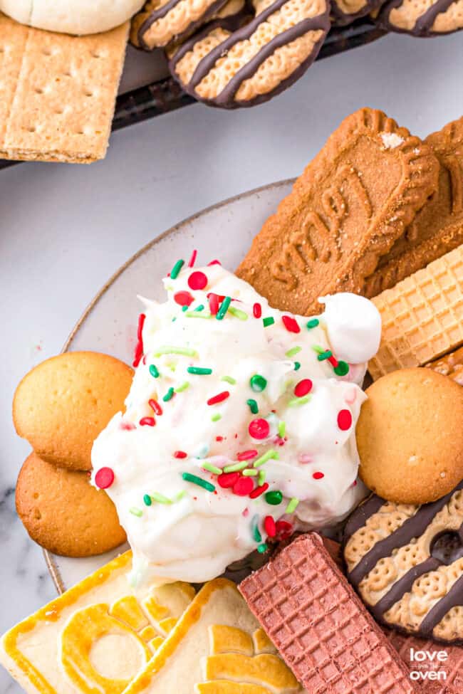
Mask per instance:
[[[143,69],[154,69],[150,58]],[[387,36],[319,61],[267,105],[239,112],[194,105],[117,132],[105,161],[90,167],[0,171],[0,632],[56,594],[41,550],[14,512],[28,453],[11,423],[19,379],[60,351],[105,280],[165,228],[298,174],[362,105],[383,108],[418,135],[437,130],[463,114],[462,73],[463,33]],[[125,85],[136,81],[131,63]],[[21,692],[1,668],[0,692]]]

